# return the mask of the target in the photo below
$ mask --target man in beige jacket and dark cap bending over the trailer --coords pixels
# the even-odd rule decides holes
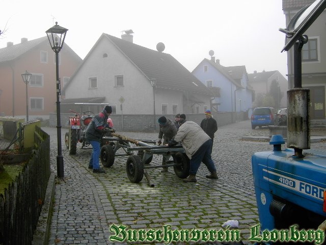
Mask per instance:
[[[194,121],[186,121],[180,118],[179,124],[180,128],[177,135],[167,145],[173,146],[181,142],[185,154],[190,159],[189,177],[184,179],[183,182],[197,182],[196,174],[201,162],[210,171],[210,175],[206,175],[206,178],[218,179],[215,163],[210,155],[211,138]]]

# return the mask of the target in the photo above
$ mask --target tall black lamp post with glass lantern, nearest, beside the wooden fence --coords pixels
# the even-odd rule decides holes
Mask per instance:
[[[61,118],[60,118],[60,78],[59,78],[59,52],[65,41],[68,29],[60,27],[58,22],[46,31],[52,50],[56,53],[56,75],[57,75],[57,174],[58,178],[64,178],[63,156],[61,149]]]

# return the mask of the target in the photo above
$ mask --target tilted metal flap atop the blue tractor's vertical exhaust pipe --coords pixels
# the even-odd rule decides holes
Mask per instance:
[[[311,5],[299,10],[290,20],[286,29],[280,28],[279,31],[284,32],[288,43],[283,47],[283,51],[288,51],[291,46],[303,36],[304,32],[311,26],[317,17],[326,8],[326,0],[316,0]]]

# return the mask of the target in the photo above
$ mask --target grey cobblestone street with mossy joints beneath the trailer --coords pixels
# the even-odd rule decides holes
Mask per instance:
[[[51,168],[57,175],[57,129],[43,130],[51,137]],[[63,140],[65,132],[67,129],[62,129]],[[158,135],[117,133],[152,140]],[[106,174],[93,174],[88,169],[92,150],[82,150],[78,143],[76,155],[69,155],[63,141],[65,178],[56,180],[49,244],[125,244],[110,241],[114,235],[110,230],[112,224],[124,225],[127,229],[162,230],[171,225],[172,230],[220,230],[229,219],[239,221],[243,242],[251,243],[248,241],[250,227],[259,224],[251,156],[255,152],[273,150],[273,145],[241,139],[248,135],[268,136],[268,129],[252,130],[250,120],[219,127],[212,153],[218,180],[205,178],[209,173],[204,164],[198,170],[197,183],[183,183],[172,167],[169,173],[153,168],[148,169],[148,174],[154,188],[148,185],[145,176],[138,184],[129,181],[127,157],[116,157],[114,165],[105,168]],[[324,146],[324,142],[311,143],[312,149],[324,149]],[[150,165],[160,164],[161,156],[154,155]]]

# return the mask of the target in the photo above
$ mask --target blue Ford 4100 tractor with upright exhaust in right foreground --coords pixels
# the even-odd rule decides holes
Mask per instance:
[[[303,33],[325,8],[326,0],[316,0],[298,11],[287,29],[280,29],[290,38],[282,51],[294,48],[294,88],[287,91],[287,148],[282,150],[285,140],[274,135],[269,142],[273,151],[252,156],[260,234],[269,234],[269,238],[273,230],[283,229],[286,236],[284,232],[291,232],[291,227],[305,230],[303,233],[319,227],[323,235],[318,234],[326,240],[325,228],[320,228],[326,220],[326,151],[310,150],[310,90],[301,84],[301,51],[308,41]],[[271,240],[284,241],[278,235],[279,239]]]

